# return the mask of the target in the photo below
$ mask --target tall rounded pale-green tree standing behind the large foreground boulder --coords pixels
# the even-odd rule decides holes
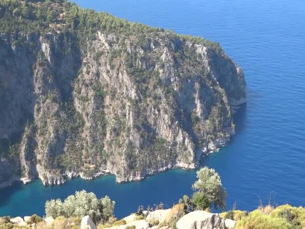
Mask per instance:
[[[205,166],[197,171],[197,178],[198,180],[192,186],[193,189],[205,195],[215,209],[220,207],[223,210],[226,207],[227,193],[222,186],[219,174]]]

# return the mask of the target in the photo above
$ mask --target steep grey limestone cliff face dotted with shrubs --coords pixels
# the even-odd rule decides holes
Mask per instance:
[[[245,91],[224,51],[169,32],[1,34],[0,183],[195,168],[234,135]]]

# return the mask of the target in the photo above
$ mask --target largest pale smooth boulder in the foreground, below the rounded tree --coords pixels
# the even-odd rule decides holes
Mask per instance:
[[[225,229],[225,220],[219,214],[206,211],[193,211],[177,222],[178,229]]]

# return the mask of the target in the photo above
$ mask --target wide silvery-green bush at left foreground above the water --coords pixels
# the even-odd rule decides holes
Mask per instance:
[[[57,217],[83,217],[89,215],[93,221],[107,221],[113,216],[114,201],[108,196],[98,199],[92,192],[85,190],[75,192],[68,196],[64,202],[60,199],[51,199],[46,202],[46,215]]]

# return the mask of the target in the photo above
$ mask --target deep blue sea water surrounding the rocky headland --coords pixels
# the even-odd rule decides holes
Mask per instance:
[[[243,69],[247,106],[236,117],[237,135],[203,160],[228,192],[227,208],[266,204],[305,205],[305,1],[303,0],[75,0],[82,7],[151,26],[220,42]],[[114,176],[74,179],[43,187],[37,180],[0,190],[0,215],[44,214],[50,198],[76,190],[116,201],[117,217],[143,204],[170,207],[191,194],[196,171],[171,170],[141,182],[116,184]],[[273,198],[272,198],[273,201]]]

